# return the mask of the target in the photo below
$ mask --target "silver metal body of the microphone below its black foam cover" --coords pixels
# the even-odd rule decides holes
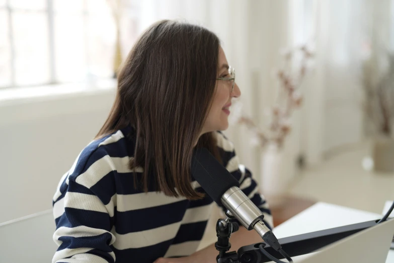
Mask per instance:
[[[220,201],[246,229],[255,229],[261,237],[270,231],[263,222],[263,213],[239,187],[230,187]]]

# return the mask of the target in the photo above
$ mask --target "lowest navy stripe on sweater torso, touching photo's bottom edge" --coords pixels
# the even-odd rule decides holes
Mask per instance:
[[[166,254],[172,242],[173,239],[170,239],[159,244],[140,248],[118,250],[112,247],[112,249],[116,254],[116,263],[152,263],[157,258],[163,257]]]

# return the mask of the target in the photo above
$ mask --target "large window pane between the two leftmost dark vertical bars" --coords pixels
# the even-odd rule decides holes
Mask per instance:
[[[45,13],[14,12],[16,85],[49,82],[48,25]]]

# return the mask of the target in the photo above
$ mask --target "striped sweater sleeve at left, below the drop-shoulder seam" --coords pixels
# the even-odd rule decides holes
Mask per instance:
[[[64,196],[64,197],[61,197]],[[86,186],[69,180],[66,192],[54,203],[59,248],[52,262],[115,262],[115,242],[107,207]],[[55,216],[56,217],[56,216]],[[64,260],[63,260],[64,259]]]

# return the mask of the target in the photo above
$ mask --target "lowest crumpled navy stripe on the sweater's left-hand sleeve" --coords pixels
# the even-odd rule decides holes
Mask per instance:
[[[72,236],[61,236],[58,240],[62,241],[57,251],[64,248],[74,249],[80,247],[94,247],[104,252],[112,252],[109,247],[112,236],[110,233],[103,233],[97,236],[84,236],[84,237],[72,237]]]

